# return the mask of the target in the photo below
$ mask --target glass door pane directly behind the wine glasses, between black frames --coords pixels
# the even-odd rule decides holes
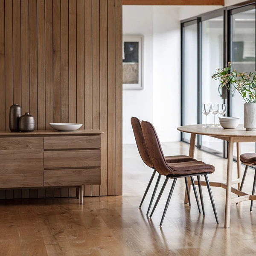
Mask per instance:
[[[219,82],[212,79],[212,73],[217,68],[223,67],[223,22],[223,16],[202,22],[202,104],[223,103],[221,89],[218,90]],[[215,116],[216,123],[218,123],[218,116],[218,114]],[[207,116],[207,122],[214,122],[213,114]],[[202,123],[205,123],[203,114]],[[223,141],[202,136],[202,147],[222,153]]]

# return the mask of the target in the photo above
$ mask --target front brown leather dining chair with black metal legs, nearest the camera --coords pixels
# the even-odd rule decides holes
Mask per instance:
[[[169,178],[173,179],[172,187],[169,192],[169,196],[167,198],[166,205],[165,205],[165,208],[163,211],[163,216],[162,216],[162,219],[160,222],[160,227],[163,224],[163,219],[166,215],[166,211],[168,209],[177,178],[183,177],[186,179],[186,177],[190,177],[192,185],[193,185],[193,184],[195,184],[193,176],[197,176],[198,177],[198,186],[201,188],[200,175],[204,175],[204,177],[205,177],[207,189],[208,189],[210,200],[212,203],[212,209],[213,209],[213,212],[215,215],[216,222],[218,223],[218,216],[217,216],[217,212],[215,209],[215,204],[214,204],[214,200],[212,197],[212,191],[211,191],[211,187],[210,187],[208,176],[207,176],[208,174],[213,173],[215,171],[214,166],[206,164],[201,161],[167,163],[166,159],[164,157],[159,139],[157,137],[157,133],[154,129],[154,126],[150,122],[142,121],[141,128],[142,128],[145,143],[146,143],[146,146],[148,149],[148,154],[149,154],[151,162],[154,166],[154,169],[161,175],[166,176],[166,180],[163,183],[162,189],[160,190],[160,193],[158,195],[157,201],[155,202],[152,213],[154,212],[154,209],[156,208],[156,206],[161,198],[161,195],[163,194],[163,191],[165,189],[167,181],[169,180]],[[201,202],[202,202],[202,206],[203,206],[203,201],[201,201]],[[151,215],[152,215],[152,213],[151,213]]]

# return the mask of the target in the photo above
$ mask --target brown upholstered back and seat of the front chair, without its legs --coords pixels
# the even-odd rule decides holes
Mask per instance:
[[[192,175],[196,173],[214,172],[214,166],[205,164],[201,161],[167,163],[154,126],[150,122],[142,121],[141,128],[150,159],[154,168],[161,175]]]

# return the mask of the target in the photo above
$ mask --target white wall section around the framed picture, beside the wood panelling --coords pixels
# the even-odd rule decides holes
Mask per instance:
[[[135,143],[131,116],[153,122],[153,6],[123,6],[123,34],[143,35],[143,90],[123,90],[123,143]]]

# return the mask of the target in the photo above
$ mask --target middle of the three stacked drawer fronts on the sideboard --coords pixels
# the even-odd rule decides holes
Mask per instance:
[[[100,150],[44,151],[44,168],[100,166]]]

